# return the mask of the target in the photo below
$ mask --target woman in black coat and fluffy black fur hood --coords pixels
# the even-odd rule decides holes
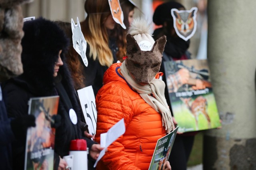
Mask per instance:
[[[70,141],[83,138],[78,125],[82,113],[64,58],[68,39],[55,23],[43,18],[26,21],[23,30],[24,73],[4,84],[4,91],[8,96],[8,116],[28,114],[28,100],[32,97],[60,96],[58,115],[61,116],[61,121],[56,127],[54,168],[64,169],[67,164],[62,157],[69,154]],[[77,124],[70,120],[70,109],[76,111]],[[86,141],[92,152],[100,151],[99,144],[90,139]],[[25,143],[26,135],[23,135],[12,145],[14,169],[24,168]],[[93,144],[96,145],[92,147]]]

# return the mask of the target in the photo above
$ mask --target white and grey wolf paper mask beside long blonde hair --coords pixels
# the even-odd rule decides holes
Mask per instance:
[[[86,57],[86,47],[87,42],[84,39],[84,35],[81,30],[81,25],[79,22],[79,19],[77,17],[76,19],[77,24],[75,24],[73,18],[71,18],[71,29],[72,29],[72,41],[73,41],[73,47],[76,50],[76,52],[82,57],[82,60],[84,62],[84,65],[88,66],[88,60]]]

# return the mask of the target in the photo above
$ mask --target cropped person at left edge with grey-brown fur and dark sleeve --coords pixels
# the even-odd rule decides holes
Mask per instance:
[[[21,39],[23,16],[21,4],[28,0],[0,1],[0,169],[12,170],[12,142],[26,135],[28,127],[35,126],[33,115],[8,118],[6,94],[2,92],[2,82],[22,74]]]

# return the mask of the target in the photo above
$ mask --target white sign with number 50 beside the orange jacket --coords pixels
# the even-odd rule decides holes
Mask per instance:
[[[85,121],[91,135],[96,133],[97,111],[92,86],[77,90]]]

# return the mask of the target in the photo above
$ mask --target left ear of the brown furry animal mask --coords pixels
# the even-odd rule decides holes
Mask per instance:
[[[126,56],[132,57],[134,54],[141,52],[137,41],[134,39],[134,37],[131,34],[128,34],[126,36],[126,41],[127,41]]]

